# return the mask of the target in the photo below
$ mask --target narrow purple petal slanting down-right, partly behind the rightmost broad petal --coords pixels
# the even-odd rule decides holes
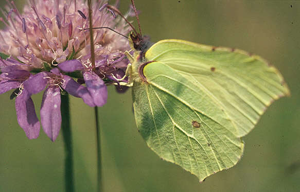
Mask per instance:
[[[69,94],[75,97],[81,97],[83,102],[88,104],[91,107],[95,107],[95,103],[93,101],[90,92],[86,89],[85,86],[77,83],[74,79],[70,78],[69,76],[63,75],[63,79],[65,80],[62,83],[62,88],[66,90]]]

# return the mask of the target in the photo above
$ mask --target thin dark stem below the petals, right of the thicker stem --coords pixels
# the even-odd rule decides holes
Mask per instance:
[[[102,167],[101,167],[101,140],[100,140],[100,123],[99,123],[99,117],[98,117],[98,108],[95,107],[95,120],[96,120],[96,134],[97,134],[97,191],[101,192],[103,191],[103,185],[102,185]]]

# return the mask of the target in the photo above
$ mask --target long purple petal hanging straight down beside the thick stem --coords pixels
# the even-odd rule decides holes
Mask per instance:
[[[48,86],[42,100],[41,124],[52,142],[57,138],[61,127],[60,103],[59,87]]]

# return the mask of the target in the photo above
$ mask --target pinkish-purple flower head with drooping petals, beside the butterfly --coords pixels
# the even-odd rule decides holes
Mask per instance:
[[[32,139],[39,136],[40,122],[31,95],[45,90],[41,124],[55,141],[61,126],[61,92],[80,97],[91,107],[103,106],[108,94],[106,85],[122,88],[117,79],[125,75],[129,61],[124,53],[130,45],[112,30],[95,29],[93,68],[91,37],[86,30],[90,28],[87,4],[83,0],[30,2],[23,14],[13,2],[9,3],[6,20],[0,19],[6,25],[0,31],[0,94],[14,90],[11,98],[15,98],[17,121]],[[126,22],[104,9],[106,5],[105,1],[95,3],[93,27],[109,27],[127,34],[130,28]],[[127,16],[131,14],[129,10]]]

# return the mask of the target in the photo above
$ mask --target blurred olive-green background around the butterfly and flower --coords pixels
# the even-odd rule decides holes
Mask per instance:
[[[129,5],[122,0],[120,10]],[[147,147],[136,129],[131,90],[117,94],[110,87],[99,108],[103,191],[300,191],[300,1],[136,0],[136,7],[153,42],[175,38],[256,53],[279,69],[292,95],[274,102],[243,138],[235,167],[199,183]],[[10,94],[0,95],[0,191],[64,191],[62,134],[55,143],[43,131],[28,140]],[[41,97],[33,96],[38,112]],[[94,110],[74,97],[70,107],[75,188],[96,191]]]

